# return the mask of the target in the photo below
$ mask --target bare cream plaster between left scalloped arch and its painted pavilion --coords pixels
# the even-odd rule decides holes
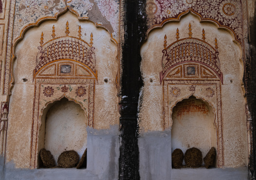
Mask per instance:
[[[95,47],[96,70],[98,80],[95,84],[94,128],[108,129],[110,125],[118,123],[117,89],[115,77],[117,73],[117,47],[109,33],[103,28],[96,28],[88,21],[78,21],[76,15],[67,12],[57,21],[43,22],[39,27],[29,29],[15,49],[14,62],[15,83],[10,97],[9,133],[7,137],[7,162],[14,160],[16,167],[30,166],[31,127],[33,119],[34,80],[33,70],[36,66],[38,46],[41,33],[44,42],[52,39],[52,26],[55,27],[57,37],[66,36],[66,23],[69,21],[69,36],[78,36],[78,28],[82,28],[82,39],[91,41],[93,33],[93,47]],[[24,81],[23,79],[27,79]],[[107,79],[107,82],[104,81]],[[45,102],[46,103],[46,102]]]

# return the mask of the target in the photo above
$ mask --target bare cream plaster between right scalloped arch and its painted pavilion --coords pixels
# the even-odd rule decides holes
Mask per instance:
[[[243,65],[241,50],[234,37],[216,25],[202,22],[197,16],[188,14],[180,22],[166,23],[162,28],[152,30],[141,48],[141,71],[144,87],[141,91],[139,106],[140,133],[163,130],[163,87],[159,81],[162,70],[162,50],[164,36],[167,45],[176,41],[176,30],[179,37],[188,38],[188,25],[191,24],[192,37],[202,39],[205,30],[206,42],[215,47],[218,40],[218,51],[223,84],[221,84],[222,131],[224,146],[224,166],[245,166],[247,160],[247,131],[245,115],[245,98],[242,89]],[[152,81],[151,81],[152,79]],[[198,94],[200,95],[200,93]],[[156,105],[157,104],[157,105]],[[171,111],[169,110],[169,114]]]

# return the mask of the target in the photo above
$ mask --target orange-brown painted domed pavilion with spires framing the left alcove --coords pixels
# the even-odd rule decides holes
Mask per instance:
[[[41,46],[38,48],[37,65],[34,69],[31,168],[36,168],[41,116],[49,103],[66,97],[80,104],[87,117],[86,125],[94,127],[97,70],[95,48],[92,46],[93,34],[91,34],[90,43],[80,38],[70,37],[67,22],[66,35],[66,37],[55,38],[54,27],[52,40],[43,43],[43,33],[41,35]]]

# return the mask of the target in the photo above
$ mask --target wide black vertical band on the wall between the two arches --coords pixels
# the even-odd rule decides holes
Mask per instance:
[[[140,179],[137,114],[140,89],[140,48],[147,32],[145,0],[124,0],[124,41],[121,44],[119,179]]]

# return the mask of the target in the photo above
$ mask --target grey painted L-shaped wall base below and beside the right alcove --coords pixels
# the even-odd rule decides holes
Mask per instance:
[[[147,132],[138,138],[141,180],[248,179],[246,167],[171,168],[171,130]]]

